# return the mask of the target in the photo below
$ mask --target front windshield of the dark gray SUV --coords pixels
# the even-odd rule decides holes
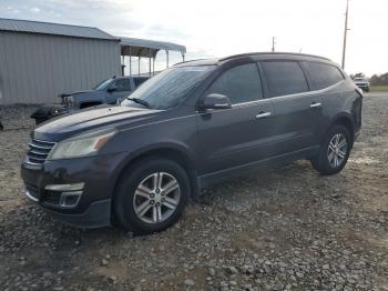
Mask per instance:
[[[213,68],[214,66],[191,66],[166,69],[144,82],[129,98],[143,100],[152,109],[176,107]],[[122,106],[133,107],[135,102],[126,99]]]

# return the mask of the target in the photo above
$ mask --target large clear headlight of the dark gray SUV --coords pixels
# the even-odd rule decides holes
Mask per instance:
[[[93,155],[116,133],[115,129],[81,134],[57,143],[49,160],[71,159]]]

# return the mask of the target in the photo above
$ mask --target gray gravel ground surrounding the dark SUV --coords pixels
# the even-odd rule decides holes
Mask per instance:
[[[76,230],[22,195],[28,130],[0,132],[2,290],[388,290],[388,94],[344,171],[306,161],[204,191],[162,233]]]

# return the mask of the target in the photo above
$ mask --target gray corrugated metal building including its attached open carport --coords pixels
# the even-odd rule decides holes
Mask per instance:
[[[0,18],[0,106],[57,103],[59,94],[93,88],[121,76],[125,57],[149,59],[154,73],[159,51],[178,51],[184,61],[186,47],[176,43],[119,38],[90,27]],[[121,59],[122,58],[122,59]],[[134,63],[135,64],[135,63]]]

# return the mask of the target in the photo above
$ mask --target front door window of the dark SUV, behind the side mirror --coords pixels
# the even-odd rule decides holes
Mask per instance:
[[[241,64],[223,72],[205,94],[211,93],[227,96],[233,104],[262,99],[262,82],[256,63]]]

